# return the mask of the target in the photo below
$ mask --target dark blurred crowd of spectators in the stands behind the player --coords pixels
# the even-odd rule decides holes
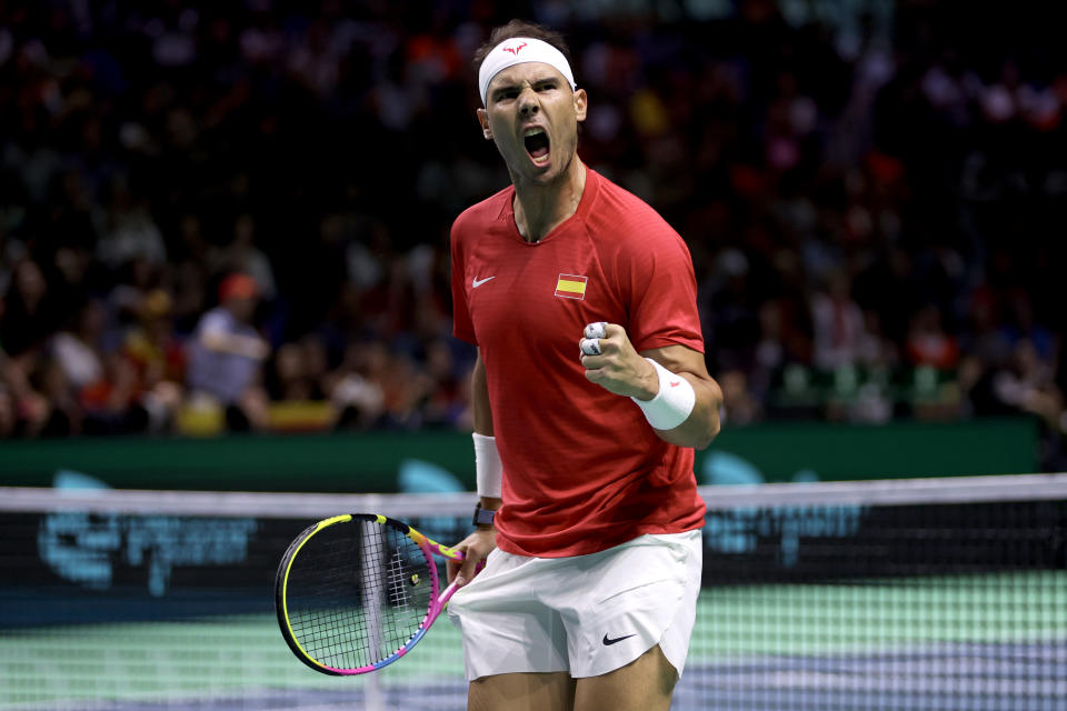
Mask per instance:
[[[1021,411],[1055,457],[1054,11],[0,0],[0,435],[469,427],[448,229],[508,181],[470,57],[523,17],[688,242],[728,422]]]

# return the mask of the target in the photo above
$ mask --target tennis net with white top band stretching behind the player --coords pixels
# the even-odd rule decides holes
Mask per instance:
[[[1067,708],[1067,474],[702,488],[676,710]],[[0,709],[465,708],[441,621],[360,678],[293,658],[275,569],[310,521],[442,542],[473,498],[0,490]]]

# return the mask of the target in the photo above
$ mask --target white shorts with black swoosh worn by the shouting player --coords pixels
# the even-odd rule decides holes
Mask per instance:
[[[501,550],[448,604],[468,681],[511,672],[599,677],[659,644],[681,677],[700,592],[700,531],[640,535],[599,553]]]

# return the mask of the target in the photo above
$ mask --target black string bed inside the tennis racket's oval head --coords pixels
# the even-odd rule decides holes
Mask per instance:
[[[396,653],[419,630],[431,597],[421,549],[378,523],[319,531],[293,560],[288,588],[293,637],[309,657],[336,669]]]

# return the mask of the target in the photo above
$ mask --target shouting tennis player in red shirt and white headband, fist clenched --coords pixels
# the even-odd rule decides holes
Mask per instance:
[[[692,261],[578,158],[588,98],[559,34],[512,21],[476,63],[512,184],[451,231],[453,330],[478,347],[478,530],[449,605],[468,709],[666,710],[700,587],[692,448],[722,401]]]

